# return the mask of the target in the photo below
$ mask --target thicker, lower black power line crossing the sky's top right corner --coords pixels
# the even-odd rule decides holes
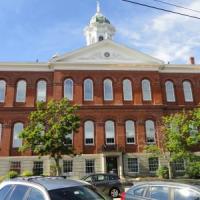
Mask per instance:
[[[187,14],[180,13],[180,12],[175,12],[175,11],[172,11],[172,10],[167,10],[167,9],[164,9],[164,8],[151,6],[151,5],[144,4],[144,3],[139,3],[139,2],[130,1],[130,0],[122,0],[122,1],[125,1],[125,2],[128,2],[128,3],[132,3],[132,4],[136,4],[136,5],[140,5],[140,6],[144,6],[144,7],[148,7],[148,8],[152,8],[152,9],[156,9],[156,10],[165,11],[165,12],[168,12],[168,13],[173,13],[173,14],[176,14],[176,15],[182,15],[182,16],[185,16],[185,17],[190,17],[190,18],[194,18],[194,19],[200,19],[200,17],[196,17],[196,16],[193,16],[193,15],[187,15]]]

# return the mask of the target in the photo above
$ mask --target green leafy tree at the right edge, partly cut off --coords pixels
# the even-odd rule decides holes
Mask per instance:
[[[182,111],[162,118],[160,146],[150,145],[145,151],[167,160],[169,178],[172,178],[172,162],[177,159],[189,161],[195,157],[194,147],[200,144],[200,109]]]

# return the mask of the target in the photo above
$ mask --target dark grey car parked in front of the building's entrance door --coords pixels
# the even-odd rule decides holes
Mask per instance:
[[[82,180],[91,183],[97,188],[98,191],[103,192],[104,194],[113,198],[118,197],[122,192],[122,184],[120,182],[119,176],[116,174],[91,174],[83,177]]]

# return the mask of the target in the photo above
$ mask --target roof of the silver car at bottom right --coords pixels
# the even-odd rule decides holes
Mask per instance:
[[[199,185],[195,184],[185,184],[185,183],[179,183],[179,182],[172,182],[172,181],[144,181],[144,182],[136,182],[134,183],[134,186],[142,186],[142,185],[160,185],[160,186],[171,186],[171,187],[188,187],[191,189],[198,190],[200,192]]]

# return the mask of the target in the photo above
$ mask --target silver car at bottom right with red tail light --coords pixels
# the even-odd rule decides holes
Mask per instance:
[[[141,182],[123,193],[121,200],[200,200],[200,187],[176,182]]]

